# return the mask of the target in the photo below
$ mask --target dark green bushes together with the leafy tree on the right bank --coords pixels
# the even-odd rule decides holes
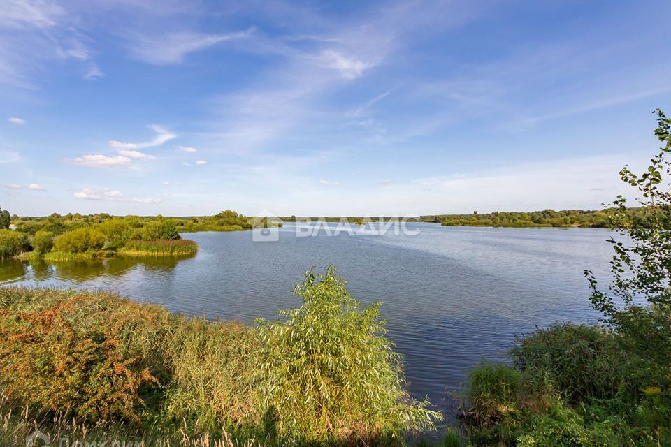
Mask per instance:
[[[641,214],[610,206],[612,284],[586,271],[602,325],[556,324],[518,337],[512,365],[469,376],[463,423],[473,446],[671,445],[671,119],[637,190]],[[623,242],[630,241],[630,242]]]

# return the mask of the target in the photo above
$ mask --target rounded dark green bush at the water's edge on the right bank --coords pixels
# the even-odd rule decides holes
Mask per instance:
[[[636,383],[628,371],[630,358],[613,332],[597,326],[563,323],[517,338],[511,350],[517,366],[535,380],[548,383],[568,402],[612,399]]]

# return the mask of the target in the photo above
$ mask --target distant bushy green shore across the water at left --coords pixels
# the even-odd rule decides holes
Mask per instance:
[[[14,230],[9,230],[10,225]],[[109,214],[51,214],[10,217],[0,208],[0,259],[73,261],[110,256],[192,256],[198,245],[180,233],[248,230],[277,226],[268,219],[231,210],[207,217],[115,217]]]

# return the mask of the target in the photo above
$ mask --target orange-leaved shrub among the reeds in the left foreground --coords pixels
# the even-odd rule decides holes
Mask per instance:
[[[0,383],[39,413],[138,422],[140,388],[154,377],[120,349],[112,327],[68,318],[74,304],[0,312]]]

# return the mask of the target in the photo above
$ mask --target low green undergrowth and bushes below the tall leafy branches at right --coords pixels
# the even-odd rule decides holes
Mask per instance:
[[[650,369],[615,332],[569,323],[519,337],[512,365],[469,375],[472,446],[669,446],[670,369]]]

